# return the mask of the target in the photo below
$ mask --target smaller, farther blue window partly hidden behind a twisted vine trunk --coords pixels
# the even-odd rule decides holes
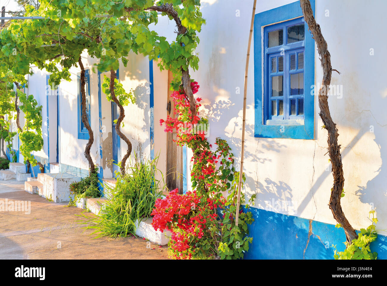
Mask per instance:
[[[91,104],[91,97],[90,97],[90,73],[89,70],[85,70],[85,91],[86,91],[86,113],[87,117],[89,118],[89,124],[90,124],[90,104]],[[86,139],[89,140],[89,132],[87,131],[86,127],[83,125],[82,122],[82,95],[80,93],[80,73],[77,73],[77,85],[78,85],[78,139]]]

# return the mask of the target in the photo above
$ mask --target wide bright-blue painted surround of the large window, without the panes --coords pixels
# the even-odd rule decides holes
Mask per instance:
[[[313,15],[315,0],[310,1]],[[314,85],[315,42],[305,23],[305,74],[304,74],[304,125],[265,125],[262,120],[262,26],[302,17],[300,1],[255,15],[254,20],[254,97],[255,97],[255,137],[314,139],[314,95],[308,94]],[[264,66],[264,70],[265,70]],[[265,79],[264,79],[265,80]],[[264,81],[265,82],[265,81]],[[264,85],[265,86],[265,85]]]

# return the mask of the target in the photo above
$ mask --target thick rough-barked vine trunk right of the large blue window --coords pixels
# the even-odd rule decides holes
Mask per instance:
[[[332,76],[330,54],[328,51],[327,42],[322,36],[320,25],[316,23],[316,20],[313,17],[313,11],[309,0],[300,0],[300,3],[305,22],[307,22],[309,30],[313,34],[313,39],[316,41],[317,49],[320,55],[321,66],[323,69],[323,79],[319,89],[319,115],[324,122],[324,128],[328,131],[328,153],[330,162],[332,163],[333,188],[330,192],[329,208],[332,211],[335,220],[340,223],[341,227],[344,229],[347,242],[351,244],[353,239],[358,238],[358,235],[345,217],[340,203],[341,193],[344,188],[344,172],[342,170],[341,162],[341,145],[337,143],[337,137],[339,134],[337,133],[336,124],[333,122],[332,117],[330,116],[328,106],[328,91],[330,79]]]

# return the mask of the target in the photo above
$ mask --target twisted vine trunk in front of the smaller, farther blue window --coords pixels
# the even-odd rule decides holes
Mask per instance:
[[[91,158],[90,155],[90,148],[91,145],[94,142],[94,134],[93,130],[91,130],[90,124],[89,124],[89,118],[87,117],[86,113],[86,91],[85,91],[85,86],[86,86],[86,80],[85,80],[85,68],[82,63],[82,59],[79,56],[78,59],[78,64],[80,68],[80,93],[82,95],[82,100],[81,100],[81,105],[82,105],[82,123],[86,127],[87,132],[89,132],[89,141],[87,141],[86,148],[85,148],[85,157],[87,159],[87,162],[89,162],[89,168],[90,168],[90,174],[95,172],[95,165],[93,162],[93,159]]]

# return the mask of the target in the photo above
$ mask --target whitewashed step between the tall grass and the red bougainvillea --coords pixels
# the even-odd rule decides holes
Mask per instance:
[[[136,235],[139,237],[145,237],[147,240],[159,244],[166,245],[171,237],[171,232],[168,230],[164,230],[161,232],[160,230],[154,230],[152,226],[152,218],[143,218],[140,223],[137,220],[135,222],[136,225]]]

